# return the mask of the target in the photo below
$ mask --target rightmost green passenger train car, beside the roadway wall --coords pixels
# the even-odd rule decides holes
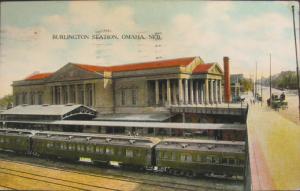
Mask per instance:
[[[156,166],[170,174],[242,176],[243,142],[165,139],[157,144]]]

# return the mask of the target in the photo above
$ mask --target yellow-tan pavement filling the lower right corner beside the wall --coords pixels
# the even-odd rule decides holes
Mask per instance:
[[[252,189],[300,189],[300,126],[256,104],[247,128]]]

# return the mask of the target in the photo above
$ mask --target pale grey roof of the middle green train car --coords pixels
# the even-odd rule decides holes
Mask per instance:
[[[139,147],[152,147],[160,141],[158,138],[149,137],[91,133],[65,133],[53,131],[38,132],[33,136],[33,138],[66,142],[72,141],[77,143],[109,144]]]

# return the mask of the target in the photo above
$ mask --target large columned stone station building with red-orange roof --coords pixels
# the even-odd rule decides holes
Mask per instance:
[[[221,103],[223,75],[217,63],[200,57],[117,66],[68,63],[56,72],[14,81],[12,87],[15,106],[82,104],[99,114],[151,113]]]

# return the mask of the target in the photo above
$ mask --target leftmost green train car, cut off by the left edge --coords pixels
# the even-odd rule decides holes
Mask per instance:
[[[30,153],[30,130],[0,129],[0,149],[16,153]]]

